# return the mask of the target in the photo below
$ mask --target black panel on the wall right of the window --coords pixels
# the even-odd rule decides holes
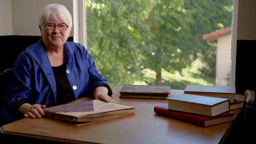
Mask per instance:
[[[246,90],[256,92],[256,40],[237,40],[236,46],[236,93],[244,95]]]

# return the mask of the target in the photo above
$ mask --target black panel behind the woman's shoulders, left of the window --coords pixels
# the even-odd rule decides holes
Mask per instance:
[[[0,36],[0,72],[12,68],[20,53],[40,38],[41,36]],[[69,37],[68,41],[73,41],[73,37]]]

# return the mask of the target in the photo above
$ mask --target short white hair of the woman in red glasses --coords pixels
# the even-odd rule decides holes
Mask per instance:
[[[50,19],[61,20],[67,24],[69,28],[72,28],[72,16],[68,9],[61,4],[48,4],[44,6],[39,16],[39,24],[43,26],[44,22]]]

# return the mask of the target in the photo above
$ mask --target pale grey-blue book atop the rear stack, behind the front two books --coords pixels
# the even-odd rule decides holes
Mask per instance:
[[[230,102],[234,102],[236,87],[188,85],[184,90],[184,94],[195,94],[195,95],[201,95],[201,96],[212,96],[217,98],[228,98]]]

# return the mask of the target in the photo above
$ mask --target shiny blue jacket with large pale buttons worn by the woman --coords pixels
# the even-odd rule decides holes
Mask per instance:
[[[66,42],[64,52],[66,75],[76,99],[89,96],[97,86],[106,86],[108,95],[112,95],[108,80],[98,72],[84,46]],[[42,39],[26,48],[17,58],[5,98],[10,99],[9,106],[21,99],[30,104],[46,105],[46,108],[56,106],[56,82]],[[1,121],[8,119],[8,116],[7,108],[4,108],[0,114]]]

